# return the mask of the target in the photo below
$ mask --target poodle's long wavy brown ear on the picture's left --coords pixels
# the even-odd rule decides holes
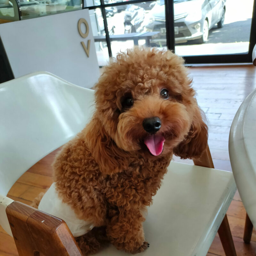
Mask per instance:
[[[89,151],[102,173],[110,175],[122,171],[125,165],[128,166],[129,163],[126,159],[129,158],[124,155],[123,150],[116,146],[99,119],[92,119],[85,129],[85,133]]]

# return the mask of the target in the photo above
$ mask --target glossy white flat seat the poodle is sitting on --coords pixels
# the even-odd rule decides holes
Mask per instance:
[[[172,162],[143,224],[141,255],[205,256],[236,192],[232,172]],[[127,255],[114,246],[97,256]]]

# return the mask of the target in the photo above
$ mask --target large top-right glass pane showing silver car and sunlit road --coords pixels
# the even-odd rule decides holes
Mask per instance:
[[[179,55],[247,53],[253,0],[174,0]]]

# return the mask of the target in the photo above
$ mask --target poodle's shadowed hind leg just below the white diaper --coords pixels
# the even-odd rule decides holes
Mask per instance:
[[[94,254],[108,244],[106,227],[94,227],[83,236],[76,237],[76,242],[84,256]]]

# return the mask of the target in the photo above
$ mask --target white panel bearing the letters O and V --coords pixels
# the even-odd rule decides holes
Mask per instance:
[[[86,38],[78,31],[80,18],[89,25]],[[84,24],[81,30],[86,32]],[[87,88],[99,78],[87,9],[1,24],[0,36],[15,78],[35,71],[48,71]],[[84,42],[87,47],[88,40],[89,57],[81,44]]]

